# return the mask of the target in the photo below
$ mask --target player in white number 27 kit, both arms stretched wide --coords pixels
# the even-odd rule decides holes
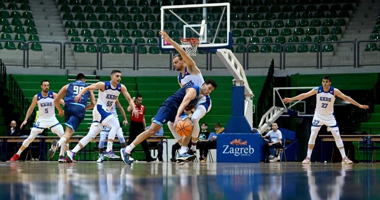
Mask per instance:
[[[307,93],[303,93],[293,98],[285,98],[283,102],[288,103],[293,100],[303,100],[312,95],[316,95],[316,106],[314,117],[311,124],[311,133],[309,142],[307,145],[307,156],[302,162],[303,164],[310,164],[311,152],[314,148],[315,138],[318,134],[318,131],[322,125],[327,126],[327,130],[331,131],[334,136],[336,146],[338,147],[340,154],[342,155],[342,164],[352,164],[353,162],[347,158],[346,153],[344,152],[343,141],[339,134],[338,124],[335,120],[334,115],[334,101],[335,96],[342,98],[345,101],[348,101],[362,109],[368,109],[368,105],[362,105],[356,102],[355,100],[347,97],[338,89],[331,87],[330,77],[324,76],[322,78],[322,86],[314,88]]]

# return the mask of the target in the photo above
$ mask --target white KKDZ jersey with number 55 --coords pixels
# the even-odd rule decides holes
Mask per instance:
[[[107,111],[111,111],[112,105],[115,103],[121,92],[121,84],[113,87],[109,81],[104,82],[105,87],[102,92],[99,90],[98,100],[96,104],[107,107]]]

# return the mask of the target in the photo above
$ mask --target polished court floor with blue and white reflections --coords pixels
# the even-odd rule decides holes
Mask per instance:
[[[1,200],[379,200],[380,164],[1,162]]]

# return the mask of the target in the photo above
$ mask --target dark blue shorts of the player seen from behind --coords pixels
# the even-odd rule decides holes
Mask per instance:
[[[74,103],[65,104],[65,124],[75,132],[84,119],[86,108]]]

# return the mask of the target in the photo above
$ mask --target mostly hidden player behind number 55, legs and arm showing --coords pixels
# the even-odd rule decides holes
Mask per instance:
[[[117,119],[117,121],[119,121],[119,116],[117,115],[117,112],[116,112],[116,106],[117,108],[119,108],[121,115],[123,115],[123,118],[124,118],[123,124],[126,126],[128,124],[127,116],[125,115],[125,111],[123,107],[121,106],[119,100],[115,101],[115,103],[112,105],[110,112]],[[110,130],[111,130],[110,127],[104,126],[103,130],[100,132],[100,141],[99,141],[99,146],[98,146],[99,157],[96,160],[97,163],[102,163],[104,160],[103,147],[104,147],[105,138],[108,136],[108,133]],[[127,142],[125,141],[123,130],[121,127],[117,130],[116,135],[119,138],[121,148],[126,147]]]

